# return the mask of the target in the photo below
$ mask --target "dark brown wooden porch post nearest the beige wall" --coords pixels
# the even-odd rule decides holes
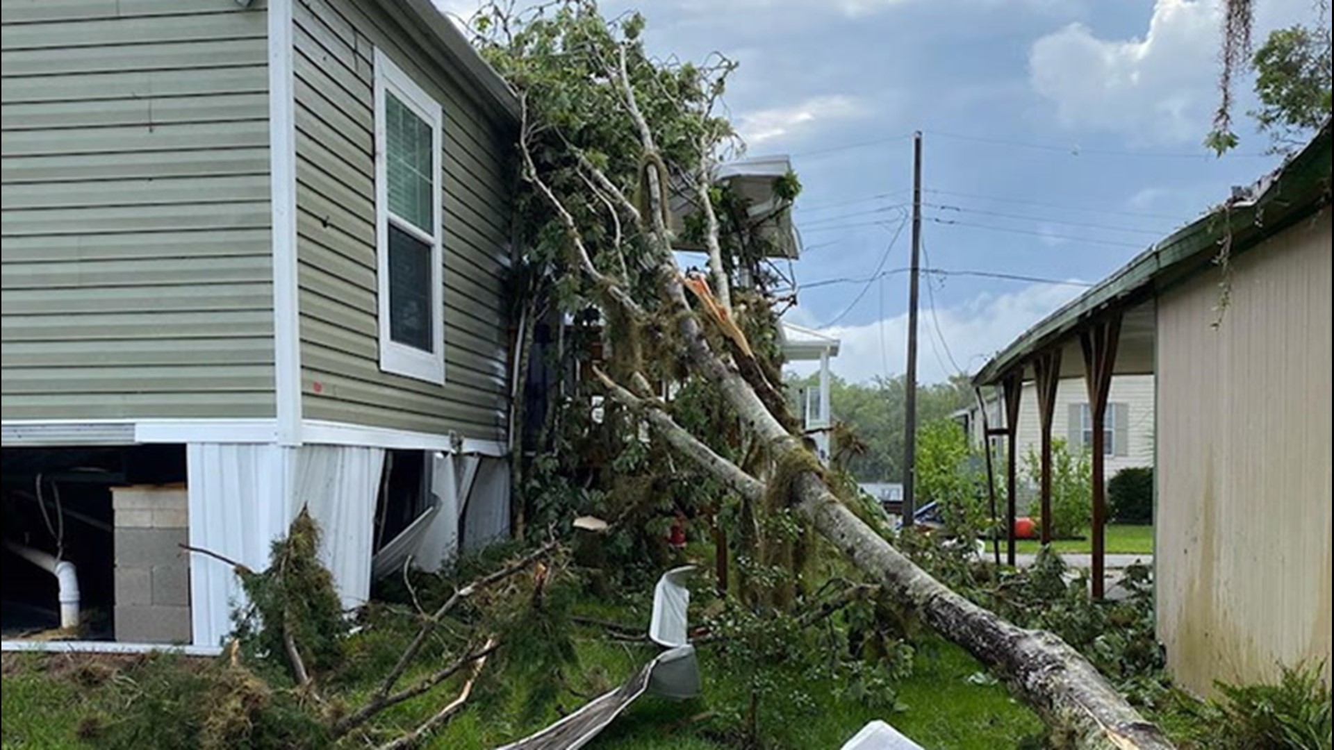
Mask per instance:
[[[1102,599],[1106,581],[1106,544],[1103,527],[1107,518],[1106,438],[1107,392],[1117,366],[1117,342],[1121,338],[1121,315],[1094,323],[1079,334],[1083,350],[1085,382],[1089,386],[1089,412],[1093,422],[1093,598]]]

